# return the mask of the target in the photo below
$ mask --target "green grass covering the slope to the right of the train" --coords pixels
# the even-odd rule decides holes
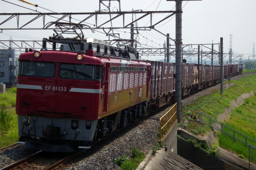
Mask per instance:
[[[191,120],[191,118],[197,118],[195,115],[198,112],[203,112],[213,118],[217,118],[219,114],[223,113],[226,107],[229,107],[232,100],[237,99],[237,97],[250,91],[254,91],[254,94],[256,94],[255,82],[256,75],[248,75],[239,80],[230,81],[230,83],[233,83],[234,85],[229,89],[223,90],[222,95],[220,94],[220,90],[217,90],[211,95],[206,95],[197,99],[193,104],[182,108],[183,115],[181,124],[186,124],[186,129],[191,133],[204,135],[210,131],[209,126],[200,125],[197,121]],[[234,109],[230,114],[230,119],[225,122],[225,124],[256,139],[255,120],[256,96],[252,96],[245,99],[241,106]],[[234,142],[234,140],[228,138],[227,135],[219,135],[219,145],[235,152],[241,158],[248,159],[248,147],[237,141]],[[256,151],[252,151],[251,159],[253,162],[256,162]]]

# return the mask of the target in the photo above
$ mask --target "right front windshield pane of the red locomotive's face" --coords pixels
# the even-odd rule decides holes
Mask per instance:
[[[78,80],[100,80],[101,66],[86,64],[61,64],[60,78]]]

